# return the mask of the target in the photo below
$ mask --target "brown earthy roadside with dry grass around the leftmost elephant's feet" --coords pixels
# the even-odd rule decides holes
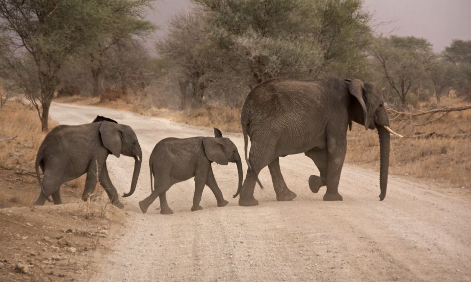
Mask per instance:
[[[0,111],[0,281],[86,281],[111,243],[124,235],[126,211],[98,196],[79,199],[83,178],[61,188],[60,206],[31,207],[39,194],[36,150],[44,137],[37,114],[11,102]],[[51,127],[54,126],[50,122]]]

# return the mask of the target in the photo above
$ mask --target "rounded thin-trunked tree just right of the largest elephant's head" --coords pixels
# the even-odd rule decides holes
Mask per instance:
[[[403,106],[407,104],[407,95],[428,79],[428,71],[436,58],[426,39],[413,36],[379,37],[371,53]]]

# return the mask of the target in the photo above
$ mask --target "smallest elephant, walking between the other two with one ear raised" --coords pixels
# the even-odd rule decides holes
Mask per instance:
[[[239,174],[238,188],[242,185],[242,163],[235,144],[228,138],[223,138],[221,131],[214,128],[214,138],[193,137],[186,139],[166,138],[157,143],[149,158],[151,170],[151,195],[139,202],[142,212],[159,197],[160,213],[172,214],[168,207],[165,192],[175,183],[195,177],[195,193],[191,211],[202,210],[200,207],[203,188],[208,185],[217,200],[218,207],[224,207],[221,190],[217,186],[211,163],[226,165],[228,162],[237,164]],[[152,189],[152,175],[155,178],[155,188]]]

